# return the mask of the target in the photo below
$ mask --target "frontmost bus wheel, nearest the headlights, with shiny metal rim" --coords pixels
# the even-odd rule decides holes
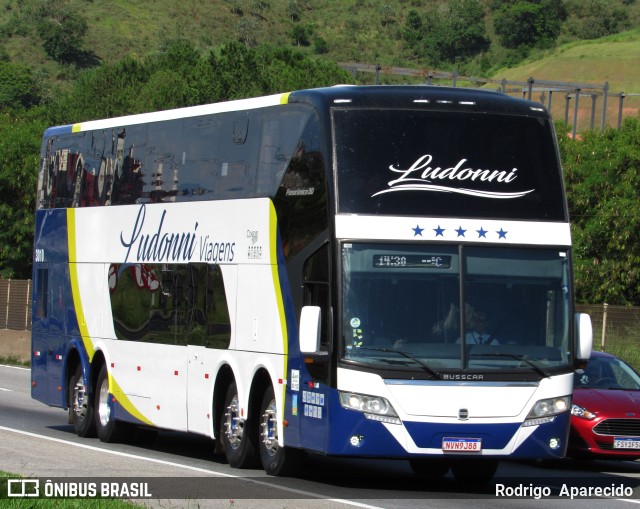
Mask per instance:
[[[262,468],[269,475],[286,476],[299,470],[304,452],[278,444],[278,410],[273,387],[269,387],[260,405],[258,447]]]

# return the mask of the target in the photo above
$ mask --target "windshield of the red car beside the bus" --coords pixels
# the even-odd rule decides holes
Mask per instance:
[[[576,371],[576,388],[640,390],[640,376],[616,357],[592,357],[585,369]]]

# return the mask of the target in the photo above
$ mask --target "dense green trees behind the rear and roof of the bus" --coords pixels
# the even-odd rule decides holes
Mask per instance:
[[[127,57],[83,72],[46,101],[37,75],[0,64],[0,277],[31,277],[40,140],[47,126],[348,83],[327,60],[290,48],[232,42],[200,54],[177,40],[139,60]],[[6,85],[5,85],[6,84]],[[45,103],[45,104],[41,104]]]

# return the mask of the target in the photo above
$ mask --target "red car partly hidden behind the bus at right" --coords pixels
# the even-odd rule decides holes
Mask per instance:
[[[576,371],[568,456],[640,458],[640,375],[621,359],[593,352]]]

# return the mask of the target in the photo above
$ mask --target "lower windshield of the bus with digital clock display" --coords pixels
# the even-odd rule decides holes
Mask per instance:
[[[548,376],[570,368],[568,253],[342,245],[342,352],[369,368]]]

